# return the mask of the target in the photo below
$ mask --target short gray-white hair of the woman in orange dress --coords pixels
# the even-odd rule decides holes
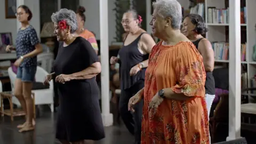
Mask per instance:
[[[156,2],[153,2],[153,7],[160,17],[170,17],[172,19],[171,26],[173,29],[180,29],[182,9],[177,0],[156,0]]]

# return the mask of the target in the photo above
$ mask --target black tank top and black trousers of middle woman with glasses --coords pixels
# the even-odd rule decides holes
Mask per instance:
[[[145,71],[146,68],[138,71],[134,76],[130,76],[130,70],[133,66],[138,65],[140,62],[148,59],[149,54],[142,54],[138,49],[140,41],[140,34],[131,44],[124,45],[119,50],[119,74],[121,82],[121,97],[119,100],[120,114],[123,122],[130,133],[134,134],[135,143],[141,143],[141,116],[143,108],[143,100],[134,106],[134,113],[128,111],[129,99],[135,95],[145,84]]]

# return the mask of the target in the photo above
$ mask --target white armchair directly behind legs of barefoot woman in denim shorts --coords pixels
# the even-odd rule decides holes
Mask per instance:
[[[14,82],[16,78],[16,74],[13,73],[12,68],[10,67],[8,69],[8,74],[11,80],[11,86],[12,86],[12,91],[14,91]],[[48,75],[47,71],[45,71],[43,68],[37,66],[36,70],[36,82],[44,82],[44,77]],[[53,80],[50,82],[50,87],[49,89],[36,89],[32,90],[32,92],[35,93],[35,105],[50,105],[51,111],[53,113],[54,111],[54,102],[53,102],[53,97],[54,97],[54,91],[53,91]],[[20,102],[16,97],[13,97],[12,100],[13,104],[20,106]]]

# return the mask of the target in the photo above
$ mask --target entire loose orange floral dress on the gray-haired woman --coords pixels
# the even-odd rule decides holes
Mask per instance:
[[[209,142],[209,119],[204,100],[205,71],[203,60],[191,42],[174,46],[156,44],[146,70],[141,143],[190,144]],[[191,97],[186,101],[164,99],[156,114],[148,106],[161,89]]]

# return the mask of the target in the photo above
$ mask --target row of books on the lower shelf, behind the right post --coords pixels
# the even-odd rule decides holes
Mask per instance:
[[[212,48],[214,51],[215,60],[229,59],[229,43],[213,42]],[[246,44],[241,44],[241,61],[246,61]]]

